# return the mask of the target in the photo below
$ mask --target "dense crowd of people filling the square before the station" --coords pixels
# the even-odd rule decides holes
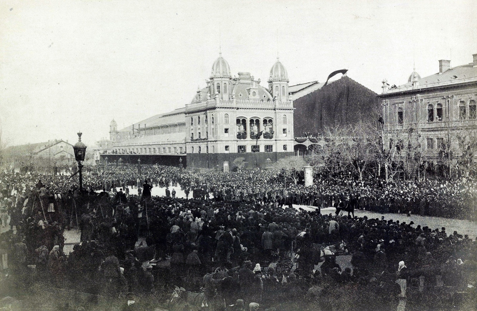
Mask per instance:
[[[0,286],[0,294],[12,284],[43,281],[171,302],[178,286],[203,292],[213,310],[280,309],[290,301],[298,309],[303,303],[324,310],[396,310],[403,299],[406,310],[435,310],[437,304],[450,310],[475,295],[472,237],[384,216],[321,214],[321,207],[352,205],[472,218],[473,179],[386,184],[316,176],[304,187],[259,168],[224,174],[123,165],[83,180],[81,193],[70,176],[0,175],[1,226],[10,226],[0,236],[1,281],[11,285]],[[168,186],[191,196],[167,190],[151,196],[153,187]],[[129,193],[135,187],[138,195]],[[65,254],[64,230],[76,226],[81,243]],[[321,256],[328,245],[339,245],[338,251]],[[334,256],[342,254],[351,255],[350,267]],[[449,289],[450,296],[444,292]],[[190,310],[202,305],[196,307]]]

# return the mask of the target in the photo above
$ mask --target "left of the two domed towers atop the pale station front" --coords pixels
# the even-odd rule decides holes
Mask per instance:
[[[212,65],[210,73],[210,97],[229,99],[230,98],[230,67],[228,62],[222,57],[222,52],[218,53],[218,59]]]

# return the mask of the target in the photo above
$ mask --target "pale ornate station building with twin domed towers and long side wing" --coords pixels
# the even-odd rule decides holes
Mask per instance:
[[[232,77],[219,54],[206,87],[198,89],[185,108],[159,114],[118,130],[97,143],[97,159],[109,162],[221,167],[244,157],[248,166],[269,166],[293,155],[293,103],[288,74],[277,58],[268,89],[250,73]]]

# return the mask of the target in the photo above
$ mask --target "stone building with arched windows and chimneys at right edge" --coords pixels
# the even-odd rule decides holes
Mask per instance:
[[[450,61],[440,60],[439,73],[424,78],[414,70],[400,86],[390,88],[384,80],[378,98],[384,145],[397,146],[402,164],[417,162],[415,155],[434,168],[446,161],[451,165],[453,158],[456,163],[477,131],[477,54],[473,62],[454,68]]]

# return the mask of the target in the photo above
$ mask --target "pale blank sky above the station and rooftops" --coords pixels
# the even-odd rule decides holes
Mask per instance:
[[[10,145],[94,145],[184,107],[222,56],[267,87],[280,62],[290,85],[332,71],[376,93],[413,71],[472,62],[475,0],[62,0],[0,2],[0,125]]]

